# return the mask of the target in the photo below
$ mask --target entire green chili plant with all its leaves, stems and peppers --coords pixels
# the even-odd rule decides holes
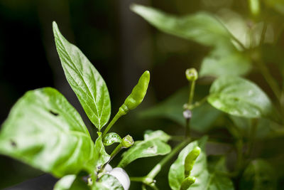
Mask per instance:
[[[157,175],[168,170],[166,164],[175,156],[178,157],[168,171],[170,189],[280,189],[284,174],[276,172],[274,167],[281,164],[270,161],[281,158],[283,153],[267,155],[266,149],[253,152],[258,141],[284,136],[284,90],[263,58],[266,41],[271,47],[273,41],[268,39],[271,37],[267,32],[270,23],[261,17],[264,4],[283,14],[281,6],[272,5],[283,7],[284,3],[263,2],[249,1],[252,23],[244,29],[249,41],[234,34],[222,18],[207,12],[178,17],[147,6],[131,6],[136,14],[161,31],[212,48],[202,60],[200,72],[195,68],[185,70],[188,88],[141,112],[142,117],[166,117],[178,122],[185,126],[184,135],[148,130],[143,140],[135,142],[130,135],[121,138],[109,130],[119,117],[143,101],[149,72],[141,75],[109,122],[111,102],[102,76],[53,23],[62,68],[87,117],[98,130],[97,139],[92,141],[79,113],[63,95],[53,88],[41,88],[29,91],[13,106],[0,133],[0,153],[61,178],[55,190],[127,190],[130,181],[141,183],[142,189],[158,189]],[[253,68],[258,68],[266,79],[274,99],[256,83],[244,78]],[[283,71],[281,74],[284,78]],[[200,97],[195,93],[198,79],[208,76],[213,77],[209,93]],[[216,137],[214,130],[218,128],[214,123],[218,120],[221,120],[218,128],[224,126],[231,139]],[[105,125],[107,127],[101,132]],[[170,141],[178,141],[178,144],[172,148]],[[208,156],[205,147],[209,142],[220,142],[230,149]],[[114,143],[119,144],[108,154],[105,147]],[[109,163],[122,149],[127,150],[112,169]],[[232,152],[233,160],[228,164]],[[136,159],[158,155],[164,157],[145,176],[129,177],[123,169]]]

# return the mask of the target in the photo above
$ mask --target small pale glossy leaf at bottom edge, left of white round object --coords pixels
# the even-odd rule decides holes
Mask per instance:
[[[105,174],[94,183],[92,190],[124,190],[124,188],[114,176]]]

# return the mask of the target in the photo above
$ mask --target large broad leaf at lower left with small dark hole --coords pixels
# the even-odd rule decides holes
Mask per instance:
[[[53,88],[28,91],[13,106],[0,133],[0,153],[62,177],[94,172],[109,155],[96,145],[82,118]]]

